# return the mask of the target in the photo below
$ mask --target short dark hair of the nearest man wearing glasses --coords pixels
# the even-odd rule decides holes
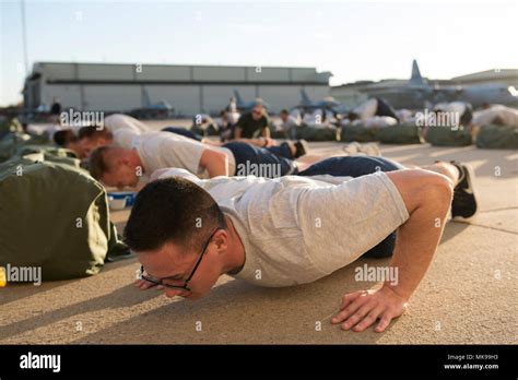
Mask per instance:
[[[197,250],[216,227],[226,225],[214,199],[198,185],[170,177],[139,192],[123,237],[133,251],[155,250],[169,241]]]

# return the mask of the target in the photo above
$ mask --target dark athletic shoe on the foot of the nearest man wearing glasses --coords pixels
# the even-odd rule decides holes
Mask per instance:
[[[469,165],[450,162],[459,170],[459,181],[454,189],[451,202],[452,218],[470,218],[476,214],[478,202],[474,191],[474,171]]]

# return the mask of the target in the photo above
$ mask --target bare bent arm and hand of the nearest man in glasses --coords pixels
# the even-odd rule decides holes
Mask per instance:
[[[393,318],[401,316],[426,273],[444,230],[452,195],[448,178],[426,170],[398,170],[387,176],[410,214],[399,228],[390,262],[397,270],[397,281],[396,284],[385,282],[376,290],[344,295],[341,311],[332,319],[332,323],[342,323],[344,330],[363,331],[379,318],[375,331],[382,332]]]

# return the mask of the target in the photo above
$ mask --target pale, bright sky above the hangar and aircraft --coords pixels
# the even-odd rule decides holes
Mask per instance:
[[[20,1],[0,0],[0,105],[25,76]],[[31,1],[28,61],[316,67],[331,84],[518,68],[518,2]]]

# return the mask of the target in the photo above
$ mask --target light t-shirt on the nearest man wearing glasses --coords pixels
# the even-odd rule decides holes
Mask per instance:
[[[234,277],[259,286],[314,282],[356,260],[408,218],[404,202],[385,173],[360,178],[275,179],[185,177],[208,191],[231,217],[246,261]]]

